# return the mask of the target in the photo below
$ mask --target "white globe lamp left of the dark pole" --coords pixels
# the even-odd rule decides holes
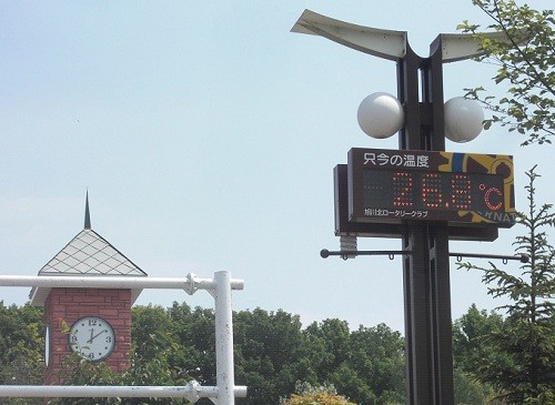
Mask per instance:
[[[403,105],[390,93],[373,93],[362,100],[357,112],[359,125],[372,138],[385,139],[395,134],[404,122]]]

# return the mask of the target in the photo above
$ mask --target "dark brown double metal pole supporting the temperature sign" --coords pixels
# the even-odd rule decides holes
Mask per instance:
[[[445,150],[440,40],[438,37],[432,44],[434,49],[430,58],[420,58],[407,47],[406,55],[397,63],[397,97],[405,109],[405,126],[400,132],[398,141],[402,150]],[[412,252],[403,261],[406,403],[452,405],[447,223],[407,222],[404,225],[403,250]]]

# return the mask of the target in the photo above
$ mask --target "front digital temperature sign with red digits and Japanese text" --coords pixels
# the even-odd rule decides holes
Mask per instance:
[[[349,221],[515,223],[508,155],[352,149]]]

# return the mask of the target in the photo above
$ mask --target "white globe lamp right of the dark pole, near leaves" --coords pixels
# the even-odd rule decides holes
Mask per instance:
[[[455,97],[445,103],[445,136],[458,143],[470,142],[482,132],[484,110],[476,100]]]

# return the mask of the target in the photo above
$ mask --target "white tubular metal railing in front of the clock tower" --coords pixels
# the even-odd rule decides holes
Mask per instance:
[[[182,397],[191,403],[208,397],[216,405],[234,405],[235,397],[245,397],[246,387],[235,386],[233,365],[233,320],[231,291],[243,290],[242,280],[232,280],[230,272],[215,272],[213,279],[188,274],[178,277],[125,276],[16,276],[0,275],[0,286],[78,287],[78,288],[178,288],[189,295],[206,290],[214,297],[216,386],[201,386],[191,381],[184,386],[56,386],[3,385],[0,397]]]

